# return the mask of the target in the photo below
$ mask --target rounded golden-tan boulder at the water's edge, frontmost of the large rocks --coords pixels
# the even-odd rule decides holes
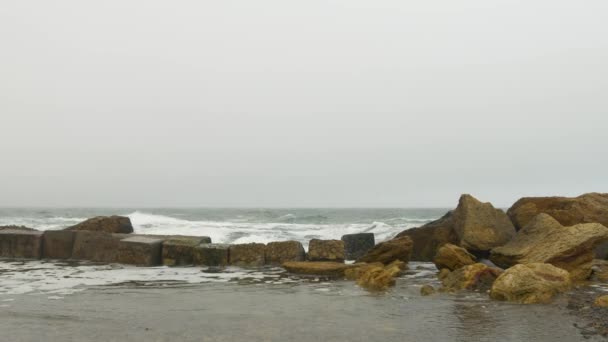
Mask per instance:
[[[492,285],[490,297],[521,304],[547,303],[572,286],[570,273],[551,264],[515,265]]]

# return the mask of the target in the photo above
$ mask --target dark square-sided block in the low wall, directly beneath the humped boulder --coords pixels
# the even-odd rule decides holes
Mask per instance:
[[[72,258],[97,262],[117,262],[120,240],[128,234],[110,234],[80,230],[75,232]]]

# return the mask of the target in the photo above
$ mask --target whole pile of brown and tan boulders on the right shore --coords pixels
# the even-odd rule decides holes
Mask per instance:
[[[608,194],[523,198],[506,213],[463,195],[441,219],[397,237],[412,238],[413,260],[435,263],[440,291],[486,291],[531,304],[589,279],[608,280],[608,267],[596,259],[605,257],[606,224]],[[421,294],[434,290],[427,285]]]

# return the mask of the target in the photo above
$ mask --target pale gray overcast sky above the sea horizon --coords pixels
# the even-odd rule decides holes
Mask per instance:
[[[2,1],[0,206],[608,191],[608,1]]]

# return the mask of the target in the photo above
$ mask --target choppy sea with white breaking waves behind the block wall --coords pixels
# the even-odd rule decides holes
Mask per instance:
[[[0,226],[62,229],[99,215],[124,215],[139,234],[205,235],[217,243],[339,239],[374,233],[376,242],[441,217],[448,209],[0,209]]]

